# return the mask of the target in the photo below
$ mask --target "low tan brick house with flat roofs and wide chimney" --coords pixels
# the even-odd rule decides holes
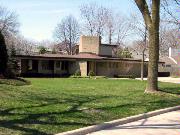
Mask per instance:
[[[100,37],[81,36],[77,55],[18,55],[17,59],[21,62],[22,76],[67,76],[79,70],[82,76],[93,71],[97,76],[140,77],[141,60],[113,57],[115,47],[101,44]],[[144,76],[147,76],[147,62],[144,64]]]

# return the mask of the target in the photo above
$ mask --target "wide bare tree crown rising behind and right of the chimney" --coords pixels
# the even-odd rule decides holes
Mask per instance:
[[[80,11],[84,21],[84,33],[101,36],[109,44],[123,45],[130,32],[127,18],[95,3],[82,5]]]

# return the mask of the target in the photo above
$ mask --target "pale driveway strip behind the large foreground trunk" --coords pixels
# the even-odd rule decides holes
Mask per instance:
[[[136,79],[140,80],[141,78],[136,78]],[[144,80],[147,80],[147,78],[144,78]],[[158,77],[158,81],[170,82],[170,83],[179,83],[180,84],[180,78]]]

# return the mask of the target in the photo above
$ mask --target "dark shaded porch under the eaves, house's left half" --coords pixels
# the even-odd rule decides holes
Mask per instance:
[[[76,70],[76,61],[21,59],[21,75],[29,77],[69,76]]]

